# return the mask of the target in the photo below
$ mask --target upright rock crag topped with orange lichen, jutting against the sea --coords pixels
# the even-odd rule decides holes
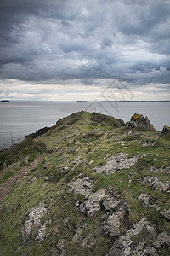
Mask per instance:
[[[130,121],[125,124],[127,128],[140,127],[144,128],[147,131],[155,131],[153,125],[150,124],[150,120],[147,116],[144,117],[143,114],[134,113]]]

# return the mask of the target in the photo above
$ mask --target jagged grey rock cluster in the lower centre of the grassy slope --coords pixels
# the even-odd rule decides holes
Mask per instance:
[[[77,179],[74,183],[69,183],[68,192],[85,195],[84,201],[77,201],[77,210],[88,218],[93,218],[96,212],[101,211],[102,233],[108,236],[121,236],[122,230],[126,230],[129,223],[126,201],[122,201],[121,195],[113,191],[111,187],[93,192],[91,182],[88,177],[84,177]],[[77,230],[74,241],[77,241],[77,234],[81,232],[82,228]]]

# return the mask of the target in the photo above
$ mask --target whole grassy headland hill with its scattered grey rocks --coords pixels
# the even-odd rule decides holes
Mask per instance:
[[[78,112],[0,153],[0,255],[169,255],[170,141]]]

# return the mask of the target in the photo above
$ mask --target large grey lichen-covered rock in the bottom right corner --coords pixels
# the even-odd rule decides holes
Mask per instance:
[[[142,236],[143,233],[147,235]],[[158,249],[163,245],[170,248],[170,236],[166,232],[157,234],[156,227],[142,218],[125,235],[116,239],[105,256],[159,256]]]

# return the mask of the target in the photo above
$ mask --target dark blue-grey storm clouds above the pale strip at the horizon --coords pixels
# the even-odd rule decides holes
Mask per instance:
[[[2,79],[169,83],[168,0],[0,1]]]

